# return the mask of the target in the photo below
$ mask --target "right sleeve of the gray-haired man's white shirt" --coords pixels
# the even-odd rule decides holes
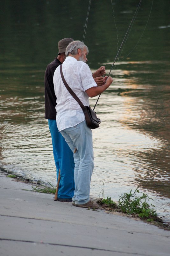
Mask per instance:
[[[93,79],[89,66],[86,63],[83,63],[83,64],[84,65],[82,65],[80,68],[80,78],[81,78],[82,87],[85,91],[91,87],[96,87],[97,84]]]

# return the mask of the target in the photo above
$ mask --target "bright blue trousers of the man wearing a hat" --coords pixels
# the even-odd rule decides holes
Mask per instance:
[[[74,196],[74,157],[63,136],[60,134],[56,120],[48,119],[51,132],[53,155],[57,170],[57,179],[60,169],[60,184],[58,198],[72,198]]]

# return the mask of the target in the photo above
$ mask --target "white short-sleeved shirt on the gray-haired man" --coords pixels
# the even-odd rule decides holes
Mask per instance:
[[[79,97],[83,105],[89,106],[89,97],[85,90],[97,86],[89,66],[74,57],[67,57],[62,64],[64,78],[69,87]],[[57,127],[59,131],[73,127],[85,120],[84,113],[65,87],[58,66],[53,76],[54,91],[57,97]]]

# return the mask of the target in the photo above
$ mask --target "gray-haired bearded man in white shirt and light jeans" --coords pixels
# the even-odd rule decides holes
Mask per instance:
[[[83,105],[89,106],[89,97],[95,97],[106,90],[113,79],[104,78],[104,83],[97,86],[87,62],[87,46],[80,41],[69,43],[66,48],[66,59],[62,64],[65,80],[79,97]],[[98,208],[89,198],[90,180],[94,168],[92,131],[87,126],[80,105],[67,91],[58,67],[53,76],[54,91],[57,97],[57,127],[74,152],[75,190],[72,204],[77,207]]]

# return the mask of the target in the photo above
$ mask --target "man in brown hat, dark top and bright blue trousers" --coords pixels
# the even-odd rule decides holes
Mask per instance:
[[[57,200],[62,202],[72,202],[72,197],[74,196],[74,157],[73,152],[57,128],[53,75],[56,68],[64,62],[67,45],[72,41],[74,41],[73,38],[64,38],[59,41],[58,57],[47,66],[45,72],[45,118],[48,119],[51,132],[57,177],[60,169],[60,184]],[[103,84],[104,78],[102,75],[104,74],[106,74],[104,66],[101,66],[93,73],[93,78],[98,86]]]

